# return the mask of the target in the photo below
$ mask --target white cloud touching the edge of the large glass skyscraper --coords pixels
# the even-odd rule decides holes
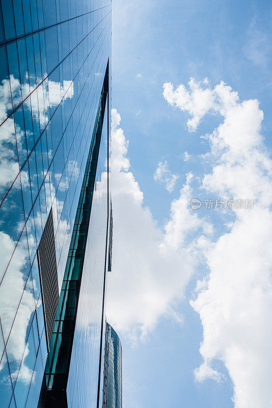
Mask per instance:
[[[114,217],[113,272],[108,274],[107,319],[118,331],[144,337],[161,316],[182,318],[175,306],[196,260],[185,236],[203,234],[205,222],[188,209],[192,175],[173,203],[165,228],[161,229],[143,193],[129,171],[128,141],[119,127],[121,117],[112,110],[112,201]],[[185,211],[183,211],[185,209]],[[196,239],[197,245],[197,239]]]

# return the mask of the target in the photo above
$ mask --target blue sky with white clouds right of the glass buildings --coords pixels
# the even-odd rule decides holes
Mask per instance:
[[[123,408],[272,407],[271,17],[268,1],[113,1]]]

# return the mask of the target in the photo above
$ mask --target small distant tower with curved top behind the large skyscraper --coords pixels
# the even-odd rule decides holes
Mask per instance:
[[[122,345],[106,323],[103,408],[122,408]]]

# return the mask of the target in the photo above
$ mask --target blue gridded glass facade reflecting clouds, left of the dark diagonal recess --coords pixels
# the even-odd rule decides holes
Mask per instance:
[[[1,0],[2,408],[38,403],[47,345],[37,248],[52,210],[60,292],[110,56],[110,0]]]

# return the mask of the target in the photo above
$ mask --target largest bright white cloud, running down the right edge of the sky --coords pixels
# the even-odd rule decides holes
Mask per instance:
[[[240,101],[223,82],[210,89],[191,80],[188,90],[165,84],[165,97],[192,116],[189,130],[207,113],[223,117],[207,136],[205,160],[212,170],[202,188],[255,199],[252,210],[232,210],[230,232],[205,248],[209,275],[191,301],[203,325],[203,363],[195,375],[200,381],[222,380],[214,368],[221,360],[233,381],[235,408],[266,408],[272,401],[272,161],[261,135],[263,112],[256,99]]]

